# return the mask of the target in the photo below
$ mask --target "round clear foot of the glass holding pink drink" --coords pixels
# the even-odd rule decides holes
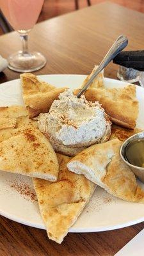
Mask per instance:
[[[8,58],[8,67],[17,72],[32,72],[45,66],[46,59],[40,52],[15,52]]]

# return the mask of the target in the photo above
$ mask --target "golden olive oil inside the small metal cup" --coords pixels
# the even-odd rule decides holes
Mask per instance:
[[[125,160],[138,167],[144,167],[144,138],[130,141],[125,147]]]

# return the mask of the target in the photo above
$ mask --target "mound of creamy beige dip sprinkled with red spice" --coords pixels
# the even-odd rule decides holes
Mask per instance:
[[[52,141],[71,147],[88,147],[99,143],[110,122],[99,102],[77,98],[72,90],[60,93],[49,113],[38,116],[38,128]],[[51,140],[50,140],[51,141]]]

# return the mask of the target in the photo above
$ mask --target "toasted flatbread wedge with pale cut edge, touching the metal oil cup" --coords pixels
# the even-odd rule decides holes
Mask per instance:
[[[129,166],[120,158],[118,139],[93,145],[72,158],[67,166],[74,173],[106,189],[111,195],[129,202],[143,202],[144,191],[138,186]]]

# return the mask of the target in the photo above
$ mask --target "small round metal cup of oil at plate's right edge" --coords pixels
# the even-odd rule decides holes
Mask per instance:
[[[120,148],[120,156],[144,183],[144,132],[134,134],[125,140]]]

